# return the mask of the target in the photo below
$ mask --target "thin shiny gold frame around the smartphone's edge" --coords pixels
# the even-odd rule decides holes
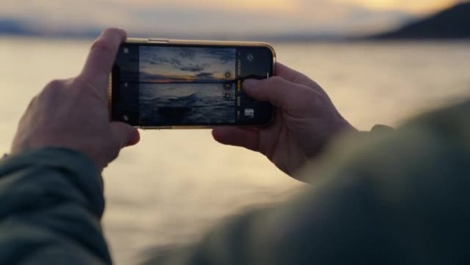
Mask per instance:
[[[276,73],[276,51],[273,46],[269,43],[264,42],[253,42],[253,41],[203,41],[203,40],[184,40],[184,39],[142,39],[142,38],[128,38],[124,43],[142,43],[142,44],[164,44],[164,45],[201,45],[201,46],[217,46],[217,47],[267,47],[273,54],[273,73]],[[112,93],[113,93],[113,78],[111,73],[109,74],[108,82],[108,110],[109,120],[111,120],[112,111]],[[233,125],[237,127],[267,127],[271,124],[276,115],[276,107],[273,107],[273,114],[271,120],[265,125]],[[139,129],[210,129],[218,126],[230,126],[230,125],[171,125],[171,126],[134,126]]]

